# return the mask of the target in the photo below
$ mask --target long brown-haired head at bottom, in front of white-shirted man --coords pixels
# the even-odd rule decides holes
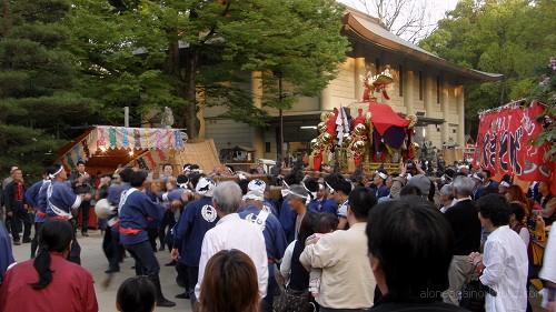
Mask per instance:
[[[222,250],[207,263],[199,312],[259,312],[257,270],[239,250]]]

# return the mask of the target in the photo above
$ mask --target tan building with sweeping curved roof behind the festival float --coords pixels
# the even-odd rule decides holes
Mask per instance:
[[[429,148],[465,144],[464,87],[502,79],[502,74],[466,69],[450,63],[388,31],[376,18],[348,9],[344,17],[344,36],[351,51],[339,66],[338,76],[320,97],[300,98],[284,111],[285,151],[289,154],[309,151],[317,135],[320,113],[339,107],[361,105],[364,77],[380,73],[387,67],[394,82],[386,88],[389,99],[378,102],[391,105],[404,115],[418,117],[415,142]],[[251,73],[254,104],[261,103],[260,74]],[[358,104],[359,103],[359,104]],[[237,145],[255,150],[256,158],[276,159],[279,150],[278,110],[265,108],[272,117],[269,127],[257,128],[222,119],[221,108],[201,109],[200,138],[215,140],[218,150]]]

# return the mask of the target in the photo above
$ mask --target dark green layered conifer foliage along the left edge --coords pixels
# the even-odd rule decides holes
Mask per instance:
[[[76,90],[70,32],[62,23],[70,2],[10,1],[10,9],[11,27],[0,37],[0,171],[18,164],[37,177],[95,102]]]

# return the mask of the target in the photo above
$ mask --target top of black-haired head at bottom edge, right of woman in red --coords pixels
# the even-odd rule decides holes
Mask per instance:
[[[127,279],[118,289],[116,309],[120,312],[152,312],[156,292],[155,284],[147,276]]]

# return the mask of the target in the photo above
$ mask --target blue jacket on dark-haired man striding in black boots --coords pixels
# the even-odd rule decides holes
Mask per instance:
[[[148,241],[147,228],[151,222],[162,220],[165,209],[138,190],[132,192],[128,190],[128,195],[123,200],[119,209],[121,244],[131,245]],[[133,230],[137,233],[126,233]]]

